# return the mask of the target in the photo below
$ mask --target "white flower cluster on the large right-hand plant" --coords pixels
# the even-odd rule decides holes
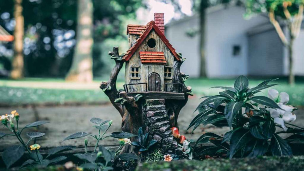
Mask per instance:
[[[281,108],[267,108],[266,110],[270,112],[270,116],[274,119],[274,122],[287,131],[287,127],[285,126],[286,122],[295,121],[297,118],[295,114],[292,113],[295,108],[290,105],[286,105],[289,101],[289,95],[286,92],[279,92],[275,89],[268,90],[268,97],[274,100],[278,106]]]

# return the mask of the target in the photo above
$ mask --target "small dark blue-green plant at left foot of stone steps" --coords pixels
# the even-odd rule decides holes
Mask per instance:
[[[142,127],[138,129],[138,141],[132,142],[132,145],[138,148],[140,152],[147,152],[157,143],[156,140],[149,141],[149,132],[143,133]]]

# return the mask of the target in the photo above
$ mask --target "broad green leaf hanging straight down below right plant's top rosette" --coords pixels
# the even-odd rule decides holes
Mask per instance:
[[[229,127],[232,127],[232,122],[237,113],[242,109],[243,102],[230,102],[225,107],[225,117]]]

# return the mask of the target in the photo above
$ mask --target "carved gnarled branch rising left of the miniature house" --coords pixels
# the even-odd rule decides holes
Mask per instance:
[[[118,47],[113,47],[113,51],[110,51],[109,55],[111,55],[111,59],[115,60],[115,67],[112,69],[109,81],[101,82],[99,88],[105,92],[105,94],[109,97],[113,106],[116,108],[116,110],[118,110],[121,117],[123,117],[122,104],[115,103],[115,99],[119,98],[119,94],[116,89],[116,80],[120,69],[123,67],[123,60],[122,60],[122,56],[119,55]]]

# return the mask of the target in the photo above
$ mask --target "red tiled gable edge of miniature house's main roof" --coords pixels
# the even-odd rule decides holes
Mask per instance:
[[[136,40],[135,44],[130,47],[130,49],[126,52],[126,54],[123,56],[124,61],[129,61],[132,55],[135,53],[137,48],[143,43],[143,40],[148,36],[150,31],[154,29],[155,33],[161,38],[161,40],[164,42],[164,44],[169,48],[173,56],[177,61],[180,60],[179,55],[175,52],[175,49],[172,47],[172,45],[169,43],[169,40],[166,38],[164,33],[156,26],[154,21],[150,21],[146,25],[146,30],[143,31],[143,33],[140,35],[140,37]]]

